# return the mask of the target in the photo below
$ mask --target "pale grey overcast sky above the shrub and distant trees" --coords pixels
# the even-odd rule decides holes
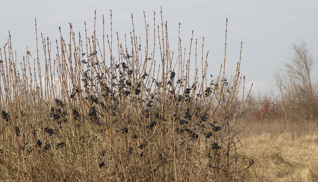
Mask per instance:
[[[160,6],[163,21],[168,22],[170,50],[177,49],[179,23],[180,38],[186,49],[189,48],[191,31],[194,31],[198,44],[202,44],[204,37],[204,53],[209,51],[208,75],[215,75],[224,60],[225,20],[228,18],[226,74],[234,74],[243,42],[241,74],[245,75],[245,87],[253,83],[254,93],[263,94],[271,90],[278,93],[273,85],[273,72],[283,66],[281,62],[287,60],[293,43],[303,40],[307,42],[310,53],[318,54],[316,0],[2,1],[0,47],[3,49],[7,43],[10,31],[17,61],[22,60],[27,47],[35,54],[35,18],[39,39],[40,33],[43,33],[43,37],[49,37],[52,42],[59,40],[59,26],[63,35],[69,36],[69,23],[72,23],[74,32],[83,34],[86,22],[87,32],[91,35],[95,10],[97,34],[102,31],[102,15],[106,28],[109,28],[112,10],[113,31],[121,37],[129,34],[133,14],[135,31],[143,36],[143,11],[149,26],[153,26],[154,11],[159,23]]]

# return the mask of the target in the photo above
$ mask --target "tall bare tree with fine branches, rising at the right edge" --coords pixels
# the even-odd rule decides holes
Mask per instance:
[[[316,59],[303,40],[292,44],[285,69],[277,69],[274,84],[280,90],[285,119],[315,120],[317,113]]]

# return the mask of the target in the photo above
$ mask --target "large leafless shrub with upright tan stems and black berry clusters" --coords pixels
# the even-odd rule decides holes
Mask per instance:
[[[145,17],[144,42],[133,16],[124,40],[113,38],[112,21],[101,39],[95,25],[84,39],[72,24],[67,39],[37,34],[43,59],[37,49],[21,63],[9,33],[0,49],[1,180],[244,180],[254,160],[236,148],[247,98],[240,58],[230,81],[226,54],[220,72],[207,74],[204,39],[191,38],[186,53],[178,38],[175,53],[162,14],[153,21]]]

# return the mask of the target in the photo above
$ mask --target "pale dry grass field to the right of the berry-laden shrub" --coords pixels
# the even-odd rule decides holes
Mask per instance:
[[[248,181],[318,181],[317,125],[254,122],[242,140],[246,154],[259,158],[248,172]]]

